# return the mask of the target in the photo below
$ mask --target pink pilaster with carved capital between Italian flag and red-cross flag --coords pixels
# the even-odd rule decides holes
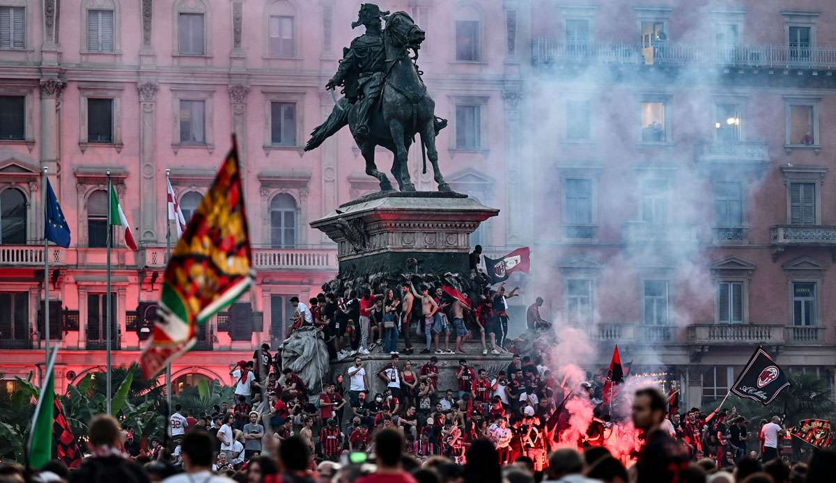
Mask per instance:
[[[159,216],[157,212],[156,191],[156,91],[157,84],[140,82],[136,84],[140,94],[140,240],[143,242],[157,242],[157,220],[167,216]]]

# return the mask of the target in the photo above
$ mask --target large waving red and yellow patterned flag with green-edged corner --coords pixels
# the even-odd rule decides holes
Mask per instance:
[[[191,216],[166,267],[158,318],[140,359],[145,378],[196,342],[197,325],[235,302],[252,284],[252,248],[238,150],[232,150]]]

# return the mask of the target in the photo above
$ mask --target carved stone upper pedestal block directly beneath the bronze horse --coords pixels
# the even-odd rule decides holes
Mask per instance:
[[[339,277],[464,274],[470,234],[498,213],[458,193],[390,191],[341,205],[311,226],[337,243]]]

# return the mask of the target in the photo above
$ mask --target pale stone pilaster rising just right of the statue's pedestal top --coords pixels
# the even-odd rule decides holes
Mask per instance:
[[[518,245],[523,235],[523,193],[520,192],[520,178],[523,175],[520,149],[520,111],[519,101],[522,94],[518,87],[502,91],[505,101],[505,245]]]

